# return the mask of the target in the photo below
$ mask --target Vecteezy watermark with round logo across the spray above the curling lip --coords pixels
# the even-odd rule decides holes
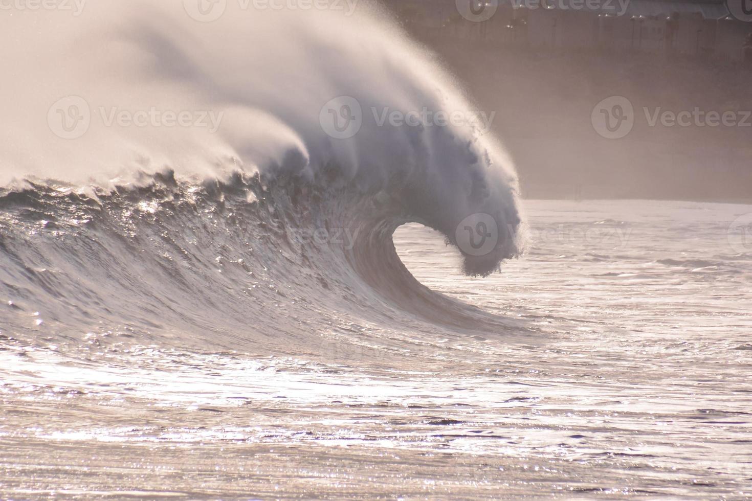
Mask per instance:
[[[350,96],[339,96],[321,108],[319,122],[323,131],[335,139],[348,139],[360,131],[365,119],[373,120],[377,127],[462,127],[468,126],[487,134],[496,112],[462,110],[394,110],[390,107],[371,107],[365,111],[360,103]]]

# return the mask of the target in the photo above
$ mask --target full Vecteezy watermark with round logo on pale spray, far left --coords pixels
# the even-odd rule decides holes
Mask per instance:
[[[166,127],[205,128],[214,134],[224,117],[215,110],[163,110],[152,106],[142,110],[123,109],[117,106],[89,107],[85,99],[69,95],[56,101],[47,112],[47,125],[58,137],[77,139],[86,134],[93,119],[105,127]]]

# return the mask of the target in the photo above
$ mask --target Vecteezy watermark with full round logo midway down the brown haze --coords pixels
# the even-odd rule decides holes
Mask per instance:
[[[645,124],[648,127],[752,127],[752,111],[664,110],[663,107],[642,107]],[[635,113],[629,99],[614,95],[605,98],[593,108],[590,121],[602,137],[620,139],[626,137],[640,116]]]

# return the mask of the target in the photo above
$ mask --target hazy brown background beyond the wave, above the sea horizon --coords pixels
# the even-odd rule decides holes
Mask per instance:
[[[588,23],[598,29],[602,22],[593,12],[546,12],[558,32],[536,40],[510,26],[511,10],[501,2],[484,23],[463,19],[454,2],[386,3],[462,80],[480,110],[496,112],[493,131],[516,161],[526,198],[752,200],[752,126],[650,126],[643,110],[699,107],[743,118],[752,110],[752,64],[744,62],[743,48],[752,23],[675,14],[677,26],[687,24],[677,29],[687,40],[671,35],[675,40],[667,42],[665,19],[638,17],[656,27],[638,26],[644,40],[632,35],[625,47],[587,39]],[[719,2],[694,3],[723,9]],[[566,38],[570,17],[586,26],[570,30],[586,32],[584,40]],[[630,20],[620,21],[629,30]],[[617,140],[599,135],[591,121],[596,104],[613,95],[628,98],[635,113],[634,128]]]

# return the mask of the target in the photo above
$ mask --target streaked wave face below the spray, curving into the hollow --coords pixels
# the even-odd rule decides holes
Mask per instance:
[[[405,325],[415,336],[519,333],[417,282],[394,249],[398,213],[383,193],[336,177],[325,186],[163,171],[111,189],[29,180],[0,190],[5,331],[82,346],[105,329],[141,343],[314,357],[347,352],[365,325],[377,335]],[[357,339],[330,339],[343,331]]]

